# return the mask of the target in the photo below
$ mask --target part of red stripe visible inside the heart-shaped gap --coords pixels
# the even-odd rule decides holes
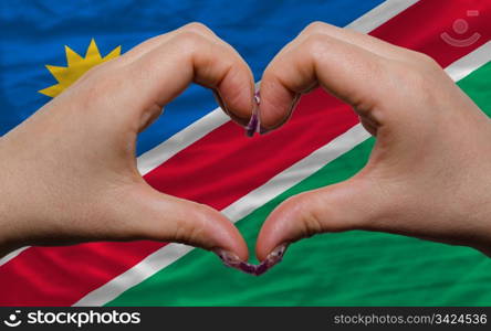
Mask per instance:
[[[284,129],[251,139],[227,122],[145,179],[161,192],[222,210],[357,122],[343,103],[317,89],[302,99]]]

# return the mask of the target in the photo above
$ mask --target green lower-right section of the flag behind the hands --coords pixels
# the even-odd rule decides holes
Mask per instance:
[[[491,63],[459,86],[491,116]],[[358,145],[237,223],[250,252],[268,214],[296,193],[343,181],[368,159]],[[195,249],[108,306],[489,306],[491,259],[467,248],[397,235],[347,232],[290,246],[261,277]]]

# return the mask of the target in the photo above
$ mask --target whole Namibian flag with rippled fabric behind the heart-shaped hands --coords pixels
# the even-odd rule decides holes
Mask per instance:
[[[432,56],[491,115],[489,0],[0,6],[0,135],[91,66],[190,21],[203,22],[234,46],[255,77],[310,22],[347,25]],[[282,129],[249,139],[217,109],[209,90],[192,86],[138,137],[138,169],[157,190],[220,210],[237,222],[253,252],[274,206],[352,177],[373,143],[352,109],[322,90],[305,95]],[[491,259],[480,253],[367,232],[297,243],[261,277],[224,268],[201,249],[156,242],[27,247],[0,260],[3,306],[489,303]]]

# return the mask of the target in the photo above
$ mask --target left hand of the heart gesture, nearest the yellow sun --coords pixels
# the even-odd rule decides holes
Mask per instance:
[[[147,238],[247,259],[242,236],[223,215],[157,192],[136,168],[137,134],[191,82],[215,89],[228,114],[247,124],[251,71],[195,23],[91,70],[2,137],[0,256],[25,245]]]

